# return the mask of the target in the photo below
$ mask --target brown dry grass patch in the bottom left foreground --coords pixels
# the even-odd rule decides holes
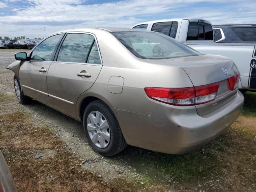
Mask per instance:
[[[117,191],[92,173],[82,172],[62,140],[48,128],[35,127],[20,112],[0,116],[0,146],[18,191]],[[44,156],[35,159],[36,154]]]

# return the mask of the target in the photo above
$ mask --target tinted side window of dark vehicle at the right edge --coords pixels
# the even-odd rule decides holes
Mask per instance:
[[[256,41],[256,27],[232,28],[243,41]]]

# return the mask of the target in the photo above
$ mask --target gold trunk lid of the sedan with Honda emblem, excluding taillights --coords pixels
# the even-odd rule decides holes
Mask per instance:
[[[237,88],[230,90],[228,78],[237,75],[239,72],[232,60],[226,57],[200,55],[158,60],[158,62],[159,64],[180,66],[183,68],[194,87],[215,82],[219,83],[215,100],[195,105],[197,113],[200,116],[213,112],[236,96]]]

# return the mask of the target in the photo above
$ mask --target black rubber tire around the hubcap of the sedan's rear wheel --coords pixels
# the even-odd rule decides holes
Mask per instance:
[[[110,143],[106,148],[98,148],[90,139],[90,136],[87,131],[87,117],[92,111],[98,111],[101,114],[104,115],[106,120],[108,121],[108,125],[110,128]],[[120,150],[120,146],[122,144],[122,132],[120,129],[120,126],[118,124],[118,121],[116,120],[116,117],[112,110],[102,101],[96,100],[88,104],[86,109],[84,110],[84,116],[83,116],[83,126],[84,126],[84,132],[86,134],[86,137],[88,139],[88,142],[90,143],[92,149],[95,152],[98,152],[99,154],[103,156],[114,156],[117,154]],[[121,133],[121,134],[120,134]]]

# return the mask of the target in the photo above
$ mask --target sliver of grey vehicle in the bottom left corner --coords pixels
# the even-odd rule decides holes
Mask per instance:
[[[9,167],[0,151],[0,192],[17,192]]]

